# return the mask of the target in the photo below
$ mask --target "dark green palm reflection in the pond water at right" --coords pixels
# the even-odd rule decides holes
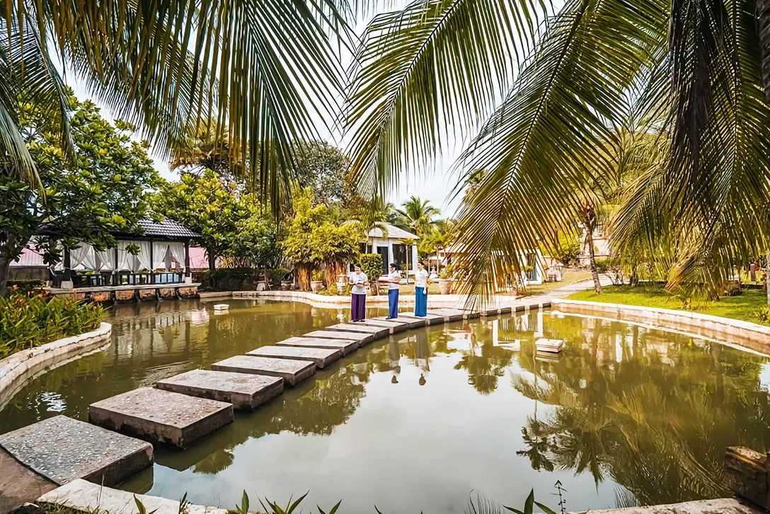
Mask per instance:
[[[579,343],[575,329],[574,320],[551,320],[557,338],[573,334],[559,361],[535,366],[531,344],[518,355],[536,378],[516,376],[514,387],[555,406],[524,427],[519,455],[535,469],[552,462],[597,482],[609,476],[627,489],[620,503],[649,505],[725,495],[725,447],[770,448],[760,358],[618,323],[585,327]]]

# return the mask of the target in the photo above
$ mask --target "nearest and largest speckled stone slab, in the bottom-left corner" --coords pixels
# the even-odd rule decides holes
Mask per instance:
[[[18,462],[56,484],[86,479],[115,485],[152,465],[152,445],[66,416],[0,435]]]

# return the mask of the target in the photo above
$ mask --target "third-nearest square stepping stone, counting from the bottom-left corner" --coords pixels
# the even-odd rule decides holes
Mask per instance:
[[[232,403],[252,411],[283,392],[283,378],[194,369],[156,384],[164,391]]]

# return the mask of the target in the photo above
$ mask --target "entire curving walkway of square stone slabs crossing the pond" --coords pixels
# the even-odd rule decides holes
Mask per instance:
[[[15,485],[0,481],[0,505],[6,497],[8,504],[34,500],[53,485],[75,479],[103,485],[122,482],[152,465],[152,445],[140,439],[186,448],[233,422],[233,406],[259,408],[280,395],[284,386],[293,387],[312,377],[316,368],[390,334],[548,306],[550,295],[524,297],[484,311],[442,307],[431,309],[427,317],[404,313],[395,320],[379,317],[336,324],[219,361],[212,371],[186,371],[160,381],[156,388],[97,401],[89,406],[94,425],[58,416],[0,435],[0,475],[19,476],[15,468],[26,469],[29,475]],[[82,488],[78,491],[81,494]],[[54,492],[61,496],[59,489]]]

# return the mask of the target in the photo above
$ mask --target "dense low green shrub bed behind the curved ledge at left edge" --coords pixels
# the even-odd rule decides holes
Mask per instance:
[[[42,294],[0,297],[0,358],[95,330],[104,316],[101,305],[70,298]]]

